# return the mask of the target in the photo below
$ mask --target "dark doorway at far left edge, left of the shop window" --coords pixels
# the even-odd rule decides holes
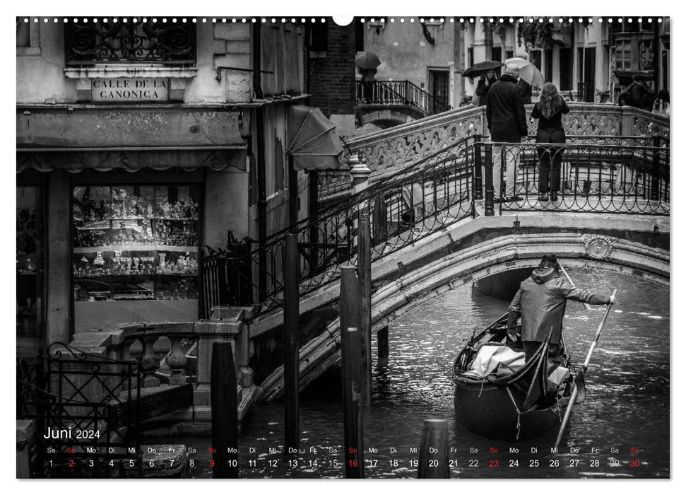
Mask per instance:
[[[34,357],[45,342],[44,190],[17,187],[17,357]]]

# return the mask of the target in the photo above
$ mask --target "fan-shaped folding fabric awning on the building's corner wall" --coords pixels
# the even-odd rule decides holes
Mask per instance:
[[[343,146],[336,124],[324,117],[319,108],[304,105],[290,107],[288,129],[293,138],[288,153],[295,170],[332,170],[341,167]]]

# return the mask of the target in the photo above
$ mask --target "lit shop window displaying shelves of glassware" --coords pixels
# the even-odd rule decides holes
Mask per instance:
[[[75,330],[194,320],[200,187],[73,188]]]

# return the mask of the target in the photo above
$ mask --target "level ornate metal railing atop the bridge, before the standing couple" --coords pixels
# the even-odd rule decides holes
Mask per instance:
[[[500,155],[492,158],[501,163],[514,163],[514,193],[521,199],[500,203],[500,211],[669,215],[668,141],[660,136],[621,137],[614,139],[614,143],[613,139],[605,139],[603,143],[583,141],[577,139],[563,145],[503,145]],[[486,161],[492,155],[492,146],[483,144]],[[555,179],[556,163],[559,182]],[[541,165],[544,170],[550,170],[550,175],[543,175],[543,182],[540,181]],[[507,180],[502,168],[501,174]],[[557,187],[557,197],[553,197],[550,192]],[[499,196],[497,193],[494,191],[495,197]]]

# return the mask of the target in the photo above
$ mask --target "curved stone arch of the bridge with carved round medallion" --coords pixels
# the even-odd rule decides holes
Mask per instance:
[[[526,222],[526,217],[519,216]],[[545,215],[532,216],[534,221],[545,221]],[[480,217],[486,224],[502,221],[502,217]],[[548,220],[555,220],[552,217]],[[540,262],[542,252],[555,252],[565,267],[596,267],[609,269],[637,279],[652,281],[664,286],[669,285],[669,252],[661,248],[650,247],[644,243],[601,235],[592,230],[586,231],[576,227],[567,231],[506,233],[499,231],[495,235],[484,235],[480,242],[468,248],[454,250],[436,259],[427,256],[437,249],[445,252],[450,244],[459,243],[451,237],[450,231],[440,234],[442,248],[428,248],[427,245],[412,245],[408,252],[422,259],[432,258],[425,262],[408,262],[407,271],[395,279],[386,282],[372,294],[372,332],[377,332],[390,322],[418,307],[431,298],[437,297],[451,289],[471,284],[480,278],[491,276],[513,269],[533,268]],[[470,222],[474,222],[470,220]],[[560,219],[557,219],[559,226]],[[592,223],[595,223],[593,221]],[[615,221],[615,224],[617,221]],[[640,223],[640,222],[638,222]],[[644,227],[649,226],[646,223]],[[634,223],[636,225],[636,223]],[[459,229],[459,226],[454,228]],[[463,229],[462,229],[463,230]],[[438,241],[439,239],[436,239]],[[421,243],[420,243],[421,244]],[[402,256],[391,256],[389,264],[401,266]],[[406,259],[406,261],[408,261]],[[326,330],[308,342],[301,349],[301,388],[312,383],[340,356],[340,329],[338,318],[333,320]],[[304,366],[303,366],[304,365]],[[266,400],[278,397],[283,391],[283,368],[270,375],[262,388]]]

